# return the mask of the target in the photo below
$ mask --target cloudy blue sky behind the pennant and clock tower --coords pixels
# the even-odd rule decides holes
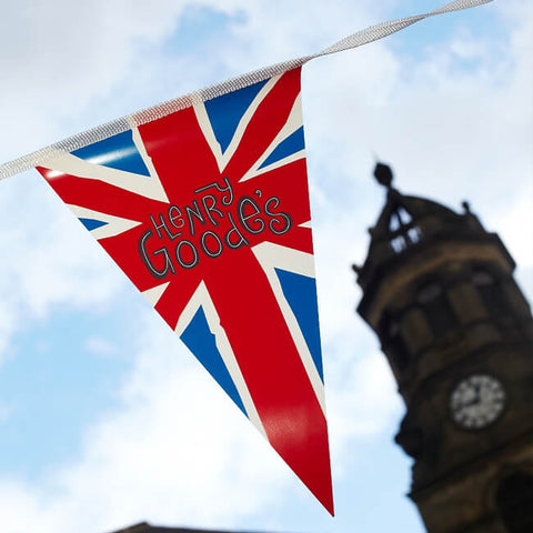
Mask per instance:
[[[0,159],[440,1],[10,2]],[[37,172],[0,183],[0,523],[423,531],[392,442],[403,408],[350,270],[371,172],[497,231],[533,299],[532,6],[496,0],[303,68],[336,516],[241,415]]]

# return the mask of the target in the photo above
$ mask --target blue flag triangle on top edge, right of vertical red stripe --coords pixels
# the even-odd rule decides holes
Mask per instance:
[[[204,103],[214,137],[219,141],[222,153],[230,145],[242,115],[247,112],[247,109],[266,81],[260,81],[244,89],[208,100]]]

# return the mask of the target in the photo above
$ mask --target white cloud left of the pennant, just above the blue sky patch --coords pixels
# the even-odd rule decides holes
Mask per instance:
[[[37,175],[1,183],[0,361],[14,332],[56,306],[107,305],[125,285],[109,257]]]

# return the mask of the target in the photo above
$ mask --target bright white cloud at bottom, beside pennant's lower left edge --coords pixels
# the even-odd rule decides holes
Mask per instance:
[[[161,325],[152,312],[141,321],[144,346],[122,405],[88,430],[78,460],[57,465],[39,487],[0,482],[9,494],[0,495],[4,531],[110,531],[145,519],[232,524],[294,481]]]

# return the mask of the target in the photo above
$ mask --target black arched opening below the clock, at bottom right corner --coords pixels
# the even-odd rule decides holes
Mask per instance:
[[[516,472],[504,477],[496,491],[496,506],[507,533],[531,533],[533,476]]]

